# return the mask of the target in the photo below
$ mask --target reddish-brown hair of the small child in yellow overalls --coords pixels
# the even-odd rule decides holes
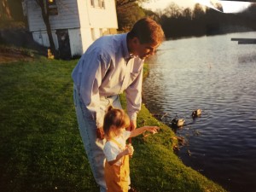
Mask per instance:
[[[104,116],[103,131],[107,139],[113,138],[113,129],[128,127],[130,119],[123,109],[108,107],[108,112]]]

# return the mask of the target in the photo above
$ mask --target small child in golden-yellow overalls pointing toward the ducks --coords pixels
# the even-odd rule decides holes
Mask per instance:
[[[103,130],[107,142],[103,152],[106,156],[105,181],[107,192],[127,192],[130,184],[129,155],[133,154],[133,147],[126,146],[125,141],[129,137],[136,137],[144,131],[157,133],[159,127],[144,126],[134,131],[125,131],[130,125],[128,115],[122,109],[108,108],[105,114]]]

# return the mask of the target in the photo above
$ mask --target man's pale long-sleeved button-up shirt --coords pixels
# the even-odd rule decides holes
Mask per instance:
[[[143,60],[129,54],[126,37],[125,33],[98,38],[73,69],[74,84],[98,127],[103,125],[101,96],[115,96],[125,91],[131,120],[137,119],[141,109]]]

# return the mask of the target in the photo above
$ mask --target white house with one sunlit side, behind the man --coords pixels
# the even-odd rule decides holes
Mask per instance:
[[[60,55],[82,55],[90,44],[106,34],[116,33],[114,0],[45,0],[56,49]],[[35,0],[24,0],[29,31],[33,39],[49,47],[41,9]]]

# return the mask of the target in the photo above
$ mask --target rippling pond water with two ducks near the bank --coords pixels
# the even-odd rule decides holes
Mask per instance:
[[[256,32],[164,42],[147,61],[143,102],[167,123],[185,119],[177,130],[188,142],[177,154],[185,165],[231,192],[256,192],[256,44],[230,38]]]

